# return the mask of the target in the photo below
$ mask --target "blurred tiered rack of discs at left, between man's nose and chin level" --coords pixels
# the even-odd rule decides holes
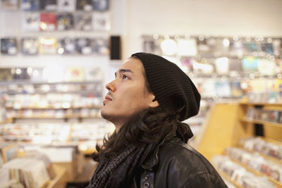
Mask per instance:
[[[48,89],[44,89],[47,86]],[[6,117],[18,119],[100,118],[102,81],[85,82],[0,82]],[[30,88],[31,87],[31,88]],[[41,101],[41,98],[44,101]],[[40,104],[43,102],[43,104]]]

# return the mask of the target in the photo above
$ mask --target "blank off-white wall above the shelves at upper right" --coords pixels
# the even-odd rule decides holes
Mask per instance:
[[[282,37],[281,0],[129,0],[130,56],[142,35]]]

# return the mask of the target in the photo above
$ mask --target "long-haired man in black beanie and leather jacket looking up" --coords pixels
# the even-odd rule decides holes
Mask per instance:
[[[186,144],[181,121],[197,115],[200,94],[174,63],[137,53],[106,84],[102,117],[116,126],[93,154],[90,187],[226,187],[204,156]]]

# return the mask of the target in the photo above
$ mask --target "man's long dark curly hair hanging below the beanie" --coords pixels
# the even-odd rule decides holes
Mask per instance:
[[[147,108],[133,115],[118,132],[104,137],[103,145],[96,145],[97,152],[92,153],[94,161],[103,157],[112,158],[128,146],[159,143],[165,137],[179,137],[188,142],[192,137],[189,125],[181,123],[159,107]]]

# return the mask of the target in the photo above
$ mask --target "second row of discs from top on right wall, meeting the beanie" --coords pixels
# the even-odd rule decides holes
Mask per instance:
[[[282,59],[269,59],[266,57],[244,56],[242,58],[169,58],[180,65],[186,73],[197,75],[226,75],[240,77],[250,73],[262,76],[277,75],[282,73]],[[245,74],[244,74],[245,73]],[[252,75],[250,75],[252,76]],[[255,77],[255,75],[253,75]]]

